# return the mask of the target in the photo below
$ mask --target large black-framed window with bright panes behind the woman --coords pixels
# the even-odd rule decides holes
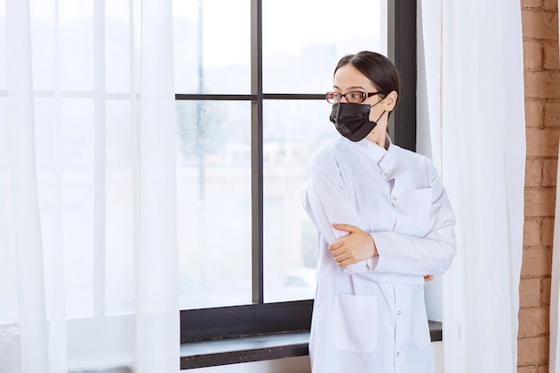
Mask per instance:
[[[324,94],[342,55],[387,53],[403,80],[391,131],[414,149],[415,20],[400,1],[174,1],[182,341],[309,327],[301,197],[310,153],[337,136]]]

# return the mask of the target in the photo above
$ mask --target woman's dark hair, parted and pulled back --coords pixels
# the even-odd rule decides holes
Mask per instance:
[[[385,55],[367,50],[356,53],[355,55],[344,55],[336,64],[335,72],[346,64],[352,64],[369,81],[371,81],[381,92],[382,97],[386,97],[391,91],[397,93],[396,103],[399,102],[399,92],[401,80],[395,64]],[[396,107],[395,103],[395,107]]]

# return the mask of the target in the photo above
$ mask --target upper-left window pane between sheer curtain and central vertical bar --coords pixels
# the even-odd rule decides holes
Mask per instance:
[[[174,0],[177,93],[250,93],[250,0]]]

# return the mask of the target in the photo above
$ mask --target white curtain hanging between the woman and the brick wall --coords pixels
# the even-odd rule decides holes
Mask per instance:
[[[419,127],[457,216],[458,253],[443,277],[445,373],[512,373],[525,167],[521,6],[420,0],[418,41]]]

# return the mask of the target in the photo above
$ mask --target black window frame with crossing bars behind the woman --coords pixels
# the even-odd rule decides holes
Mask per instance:
[[[388,57],[401,75],[399,106],[389,131],[395,144],[416,150],[416,2],[387,0]],[[262,84],[262,0],[251,0],[251,94],[176,94],[176,100],[251,102],[252,302],[181,310],[181,343],[310,330],[313,300],[264,302],[263,285],[263,102],[267,99],[324,100],[318,94],[264,93]]]

